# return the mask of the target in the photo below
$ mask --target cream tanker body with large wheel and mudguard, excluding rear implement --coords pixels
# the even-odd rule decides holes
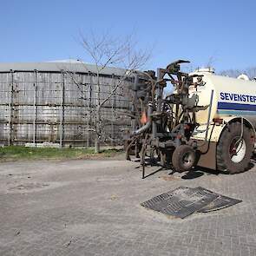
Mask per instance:
[[[203,152],[198,165],[231,174],[245,171],[255,139],[256,82],[211,72],[193,74],[203,75],[202,82],[197,88],[191,86],[189,94],[199,96],[198,106],[208,105],[206,110],[195,114],[200,125],[195,128],[192,139]],[[194,78],[194,82],[196,80]],[[227,126],[230,129],[226,129]],[[250,131],[252,134],[247,134]]]

